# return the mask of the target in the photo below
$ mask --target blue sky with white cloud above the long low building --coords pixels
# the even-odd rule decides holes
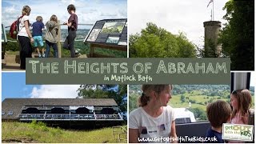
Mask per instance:
[[[2,73],[5,98],[76,98],[80,85],[26,85],[26,73]]]

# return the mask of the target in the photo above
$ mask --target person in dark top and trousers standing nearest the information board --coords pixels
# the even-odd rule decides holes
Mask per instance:
[[[68,26],[68,36],[63,44],[64,49],[70,50],[71,58],[75,57],[74,50],[74,38],[77,36],[76,31],[78,30],[78,16],[75,14],[75,6],[69,5],[67,6],[68,13],[70,14],[70,18],[67,22],[64,22],[64,25]]]

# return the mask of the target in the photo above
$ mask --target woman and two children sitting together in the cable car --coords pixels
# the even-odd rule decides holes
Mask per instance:
[[[167,106],[172,88],[171,85],[142,85],[139,107],[129,116],[129,142],[177,142],[174,110]],[[253,124],[251,102],[250,91],[245,89],[234,90],[230,94],[230,104],[222,100],[208,104],[206,113],[211,126],[206,130],[206,138],[217,138],[217,142],[224,143],[223,123]]]

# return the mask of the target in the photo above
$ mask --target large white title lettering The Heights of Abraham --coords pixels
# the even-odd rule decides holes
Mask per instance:
[[[60,65],[60,63],[62,63]],[[40,62],[29,60],[33,74],[226,74],[226,62]]]

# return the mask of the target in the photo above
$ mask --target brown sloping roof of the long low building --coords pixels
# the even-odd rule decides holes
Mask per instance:
[[[18,119],[22,106],[118,106],[113,98],[6,98],[2,119]],[[14,114],[8,115],[12,111]]]

